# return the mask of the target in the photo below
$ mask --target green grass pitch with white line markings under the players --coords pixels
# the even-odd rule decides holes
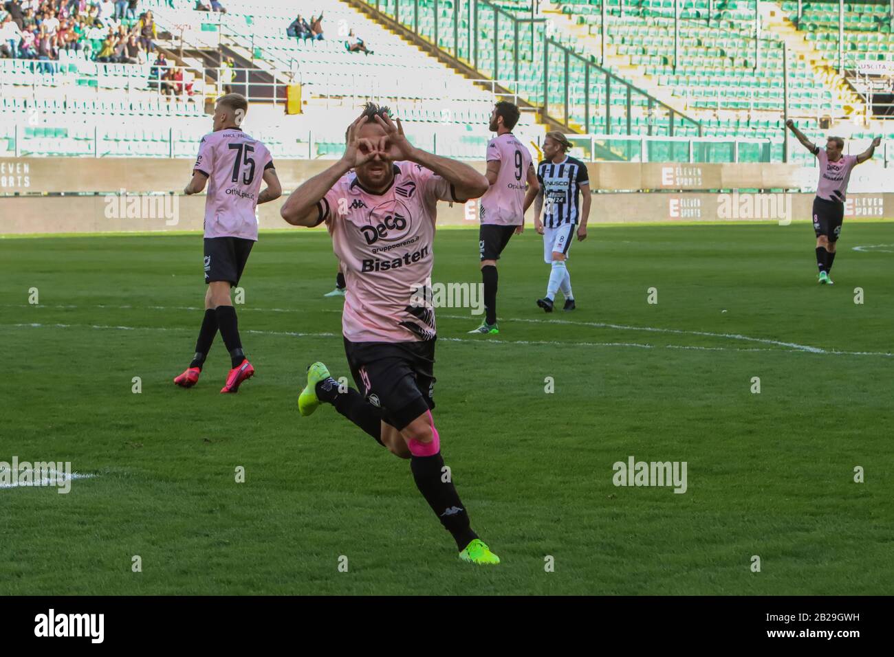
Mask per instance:
[[[498,340],[438,311],[434,417],[493,569],[457,559],[407,461],[329,407],[299,417],[308,363],[348,375],[324,232],[262,234],[238,395],[220,336],[196,388],[172,383],[200,236],[0,240],[0,460],[93,475],[0,489],[0,594],[888,594],[892,233],[846,222],[821,287],[808,223],[594,226],[578,310],[552,316],[541,239],[514,238]],[[480,280],[477,232],[434,254],[435,282]],[[629,456],[686,461],[687,492],[616,487]]]

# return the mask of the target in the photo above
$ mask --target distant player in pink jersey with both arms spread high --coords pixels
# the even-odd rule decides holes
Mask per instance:
[[[814,198],[816,266],[820,270],[816,279],[821,284],[832,285],[829,273],[832,270],[832,263],[835,262],[835,245],[841,234],[841,224],[844,222],[844,202],[848,193],[850,173],[857,164],[862,164],[873,156],[875,147],[881,144],[881,138],[873,139],[870,147],[860,155],[846,156],[841,154],[844,150],[844,139],[830,137],[823,149],[807,139],[791,119],[786,125],[795,133],[797,140],[819,161],[820,181],[816,184],[816,198]]]

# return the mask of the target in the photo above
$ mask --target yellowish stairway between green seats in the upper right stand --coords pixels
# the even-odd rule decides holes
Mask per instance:
[[[828,88],[848,115],[863,115],[866,106],[862,97],[839,75],[822,53],[814,47],[814,42],[806,38],[803,31],[797,29],[787,13],[773,2],[759,3],[763,28],[780,40],[785,41],[791,52],[805,61],[813,69],[818,80]]]

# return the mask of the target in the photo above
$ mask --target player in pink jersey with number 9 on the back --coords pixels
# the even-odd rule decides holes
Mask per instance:
[[[519,108],[500,101],[491,113],[490,131],[497,136],[487,142],[488,189],[478,202],[478,252],[481,257],[481,280],[485,286],[485,318],[468,333],[496,334],[497,326],[497,260],[513,234],[525,230],[525,183],[539,190],[540,183],[527,147],[512,134],[519,122]]]

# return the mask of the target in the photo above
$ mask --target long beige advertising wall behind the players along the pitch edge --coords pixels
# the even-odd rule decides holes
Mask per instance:
[[[0,159],[0,234],[200,231],[204,195],[152,193],[181,190],[190,179],[192,164],[191,159]],[[287,193],[331,164],[279,160],[276,168]],[[484,170],[484,163],[475,165]],[[804,178],[804,168],[797,165],[591,163],[587,168],[591,187],[597,191],[590,215],[594,225],[760,220],[789,223],[809,220],[812,214],[812,193],[700,191],[800,187],[798,180]],[[65,195],[60,196],[62,193]],[[289,228],[279,215],[282,203],[277,200],[258,206],[262,231]],[[441,204],[438,225],[477,225],[477,211],[477,201]],[[894,193],[853,193],[845,206],[848,218],[881,218],[892,213]]]

